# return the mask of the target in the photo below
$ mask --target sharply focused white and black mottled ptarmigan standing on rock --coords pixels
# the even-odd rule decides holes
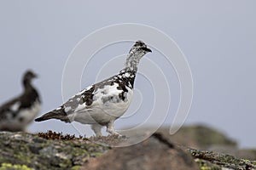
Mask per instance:
[[[137,65],[143,55],[152,52],[142,41],[132,46],[119,74],[85,88],[54,111],[37,118],[36,122],[59,119],[63,122],[90,124],[96,136],[102,135],[102,126],[110,134],[118,134],[113,122],[125,114],[133,95]]]

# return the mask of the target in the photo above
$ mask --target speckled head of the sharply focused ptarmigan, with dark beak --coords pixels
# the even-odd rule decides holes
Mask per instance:
[[[143,41],[137,41],[132,46],[129,54],[135,54],[138,57],[142,58],[144,54],[147,54],[148,52],[152,52],[151,49],[147,47],[147,45]]]

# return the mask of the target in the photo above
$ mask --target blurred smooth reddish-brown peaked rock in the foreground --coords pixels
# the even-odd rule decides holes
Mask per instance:
[[[194,170],[199,167],[188,153],[155,133],[140,144],[114,148],[106,155],[91,159],[82,169]]]

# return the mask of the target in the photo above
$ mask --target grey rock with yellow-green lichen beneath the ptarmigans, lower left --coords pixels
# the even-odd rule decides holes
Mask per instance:
[[[70,138],[72,140],[52,140],[30,133],[0,132],[0,169],[78,168],[90,157],[109,150],[84,139]]]

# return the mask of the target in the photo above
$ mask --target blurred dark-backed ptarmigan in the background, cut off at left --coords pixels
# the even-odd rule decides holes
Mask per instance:
[[[28,124],[38,115],[41,101],[38,91],[31,83],[36,77],[32,71],[26,71],[22,80],[23,93],[0,106],[1,131],[26,131]]]

